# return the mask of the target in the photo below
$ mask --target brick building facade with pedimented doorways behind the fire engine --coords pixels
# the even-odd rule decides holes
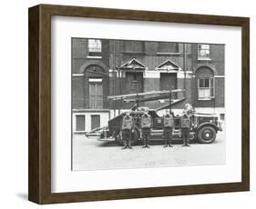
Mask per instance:
[[[224,119],[224,47],[72,38],[73,131],[83,133],[107,125],[132,105],[108,100],[108,95],[176,88],[186,89],[186,99],[174,104],[174,112],[189,102],[200,112]],[[164,104],[168,101],[140,105],[155,109]]]

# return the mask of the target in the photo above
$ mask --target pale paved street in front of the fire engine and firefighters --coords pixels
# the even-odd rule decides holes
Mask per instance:
[[[96,137],[75,134],[73,138],[73,169],[96,170],[155,166],[186,166],[225,164],[225,133],[219,132],[213,144],[191,144],[172,148],[152,144],[150,149],[141,145],[122,150],[114,142],[98,141]]]

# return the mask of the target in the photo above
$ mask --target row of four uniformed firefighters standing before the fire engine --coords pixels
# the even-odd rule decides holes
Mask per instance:
[[[148,112],[145,112],[141,116],[140,120],[142,139],[144,141],[144,146],[142,148],[150,148],[149,147],[149,139],[152,128],[152,119]],[[172,132],[174,126],[174,114],[169,111],[163,116],[163,136],[164,136],[164,147],[172,147]],[[188,113],[183,113],[180,118],[180,130],[183,140],[182,146],[189,146],[189,130],[191,127],[190,116]],[[132,133],[134,132],[134,123],[132,120],[132,116],[127,113],[123,117],[122,121],[122,139],[125,141],[125,146],[122,149],[132,149],[131,147],[131,139]]]

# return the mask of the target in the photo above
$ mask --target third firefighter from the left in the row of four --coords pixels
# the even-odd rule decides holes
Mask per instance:
[[[163,118],[164,147],[172,147],[173,114],[167,111]]]

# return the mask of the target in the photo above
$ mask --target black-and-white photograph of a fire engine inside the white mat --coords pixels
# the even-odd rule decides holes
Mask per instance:
[[[73,171],[226,163],[225,45],[70,41]]]

